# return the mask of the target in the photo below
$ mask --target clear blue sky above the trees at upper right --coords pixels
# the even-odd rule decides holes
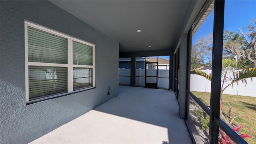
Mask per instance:
[[[243,27],[252,24],[252,19],[256,18],[256,0],[226,0],[224,9],[224,31],[229,30],[239,32],[240,28],[244,34],[248,29]],[[207,36],[213,32],[214,10],[206,18],[203,24],[192,36],[192,45],[201,36]]]

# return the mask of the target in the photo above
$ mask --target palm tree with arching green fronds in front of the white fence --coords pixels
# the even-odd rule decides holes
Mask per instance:
[[[222,71],[221,71],[221,91],[220,91],[220,106],[223,111],[223,103],[222,103],[222,94],[228,86],[232,86],[234,83],[238,81],[242,81],[242,83],[247,84],[246,79],[256,77],[256,68],[246,68],[246,63],[243,61],[236,61],[230,59],[222,60]],[[207,78],[208,80],[212,80],[212,76],[210,74],[206,74],[201,70],[191,70],[191,74],[198,74]],[[227,85],[224,85],[227,84]],[[237,83],[238,84],[238,83]]]

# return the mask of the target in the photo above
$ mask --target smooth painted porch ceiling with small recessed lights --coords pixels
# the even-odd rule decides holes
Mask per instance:
[[[51,2],[117,40],[120,52],[174,48],[195,7],[188,0]]]

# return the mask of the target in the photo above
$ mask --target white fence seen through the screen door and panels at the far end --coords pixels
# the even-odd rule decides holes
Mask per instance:
[[[119,68],[119,84],[130,85],[131,69]],[[156,76],[156,70],[147,70],[147,76]],[[136,69],[136,86],[145,86],[145,69]],[[158,70],[158,88],[169,88],[169,70]],[[156,78],[147,77],[147,82],[154,83]]]

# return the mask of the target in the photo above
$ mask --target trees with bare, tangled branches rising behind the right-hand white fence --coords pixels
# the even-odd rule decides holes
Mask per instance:
[[[223,34],[223,57],[228,59],[244,60],[246,67],[256,68],[256,18],[253,24],[245,27],[248,32],[244,34],[240,28],[238,32],[229,30]],[[192,46],[191,69],[204,66],[205,61],[212,61],[212,34],[202,36]]]

